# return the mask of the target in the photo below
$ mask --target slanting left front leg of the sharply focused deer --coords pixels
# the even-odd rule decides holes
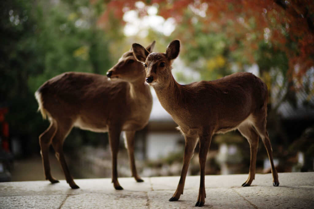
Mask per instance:
[[[187,176],[187,170],[189,168],[189,164],[193,156],[193,152],[194,152],[196,144],[197,144],[197,138],[185,137],[185,148],[184,148],[183,167],[181,170],[181,177],[180,177],[176,192],[170,198],[169,201],[177,201],[179,200],[181,194],[183,194],[185,178]]]

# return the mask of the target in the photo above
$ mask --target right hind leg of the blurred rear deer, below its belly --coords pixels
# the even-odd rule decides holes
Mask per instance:
[[[60,124],[60,123],[58,123]],[[67,124],[62,124],[58,126],[57,133],[55,137],[52,139],[52,147],[56,152],[56,157],[62,167],[65,180],[67,180],[68,184],[72,189],[78,189],[78,185],[75,184],[72,175],[68,169],[68,165],[65,161],[64,154],[63,154],[63,142],[64,139],[67,137],[68,133],[72,129],[72,123],[68,122]]]

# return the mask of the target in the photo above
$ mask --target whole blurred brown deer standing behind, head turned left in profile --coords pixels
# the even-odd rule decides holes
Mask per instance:
[[[155,41],[145,50],[151,52],[154,45]],[[131,49],[122,55],[107,76],[67,72],[46,81],[35,92],[43,118],[48,116],[50,121],[49,128],[39,136],[47,180],[59,182],[51,176],[48,158],[51,144],[68,184],[73,189],[79,188],[73,181],[62,151],[64,139],[73,127],[78,127],[109,133],[112,182],[116,190],[123,189],[118,182],[117,154],[120,134],[124,131],[132,175],[138,182],[143,181],[135,167],[134,135],[148,123],[153,104],[149,86],[145,85],[145,76],[144,66],[135,59]]]

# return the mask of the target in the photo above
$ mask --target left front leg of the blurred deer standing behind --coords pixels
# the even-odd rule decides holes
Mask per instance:
[[[111,177],[112,183],[116,190],[122,190],[122,186],[120,186],[118,182],[118,171],[117,171],[117,156],[119,151],[120,144],[120,134],[121,134],[121,126],[110,126],[109,127],[109,144],[111,148]]]

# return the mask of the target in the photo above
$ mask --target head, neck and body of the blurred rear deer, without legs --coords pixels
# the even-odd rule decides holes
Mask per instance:
[[[111,81],[106,76],[79,72],[46,81],[35,93],[43,117],[98,132],[107,131],[109,124],[121,125],[124,130],[142,129],[152,108],[143,65],[128,51],[108,73]]]

